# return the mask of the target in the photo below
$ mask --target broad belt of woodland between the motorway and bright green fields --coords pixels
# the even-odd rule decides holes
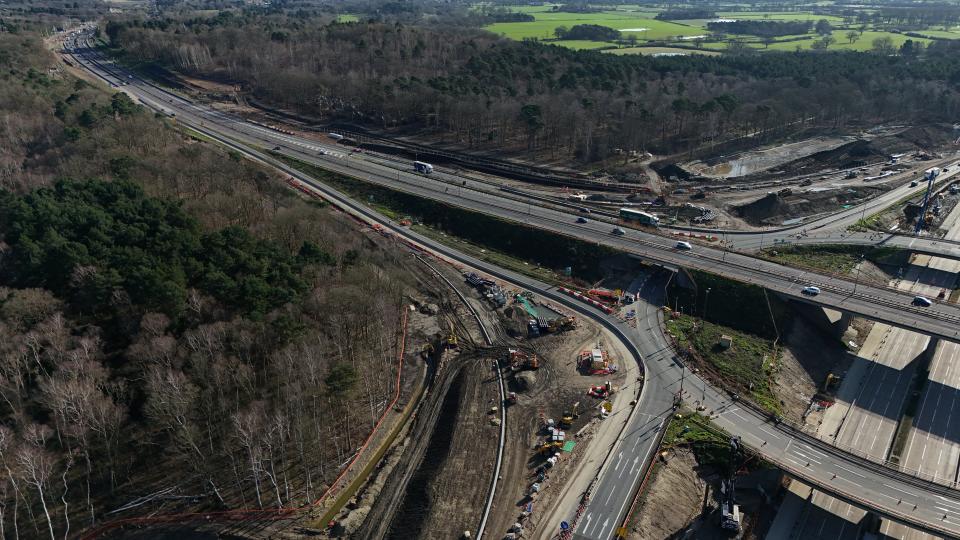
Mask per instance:
[[[668,153],[784,128],[929,122],[960,112],[960,44],[922,54],[653,58],[480,30],[221,13],[111,22],[129,60],[242,83],[261,102],[477,148],[582,161]]]

